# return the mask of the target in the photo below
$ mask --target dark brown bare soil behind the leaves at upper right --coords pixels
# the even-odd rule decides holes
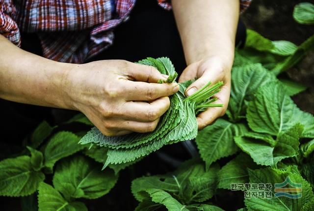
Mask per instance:
[[[314,0],[307,0],[314,3]],[[249,29],[271,40],[288,40],[301,44],[314,34],[314,25],[301,25],[292,17],[294,5],[304,0],[253,0],[242,19]],[[314,114],[314,52],[299,65],[288,70],[288,77],[309,87],[292,99],[301,110]]]

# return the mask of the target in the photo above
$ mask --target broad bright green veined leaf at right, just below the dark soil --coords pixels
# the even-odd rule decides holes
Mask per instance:
[[[247,108],[247,121],[252,130],[277,136],[296,123],[304,125],[301,138],[314,138],[314,117],[301,111],[278,83],[258,89]]]

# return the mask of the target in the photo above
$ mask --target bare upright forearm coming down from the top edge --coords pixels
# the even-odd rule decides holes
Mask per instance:
[[[238,0],[172,0],[187,64],[211,56],[231,62],[239,16]]]

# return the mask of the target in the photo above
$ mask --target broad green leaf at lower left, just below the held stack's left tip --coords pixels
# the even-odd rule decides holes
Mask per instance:
[[[53,186],[66,199],[99,198],[108,193],[118,179],[111,169],[101,171],[101,166],[83,156],[64,159],[56,167]]]

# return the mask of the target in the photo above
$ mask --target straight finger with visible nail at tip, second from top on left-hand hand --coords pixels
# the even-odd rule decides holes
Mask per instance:
[[[155,100],[159,97],[170,96],[179,90],[177,83],[145,83],[128,81],[125,83],[125,99],[130,100]]]

